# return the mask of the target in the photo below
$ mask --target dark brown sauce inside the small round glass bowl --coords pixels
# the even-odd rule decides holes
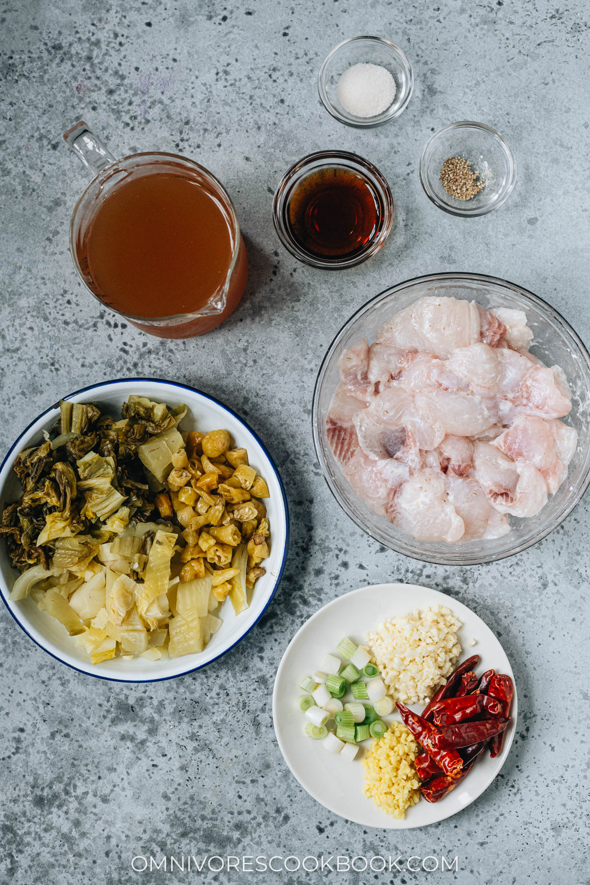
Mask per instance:
[[[352,258],[380,227],[379,196],[351,169],[334,166],[310,173],[296,185],[287,219],[304,250],[321,258]]]

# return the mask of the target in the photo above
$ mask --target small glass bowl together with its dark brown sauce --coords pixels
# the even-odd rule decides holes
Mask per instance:
[[[392,227],[394,201],[368,160],[345,150],[320,150],[287,169],[274,195],[272,219],[295,258],[337,270],[379,251]]]

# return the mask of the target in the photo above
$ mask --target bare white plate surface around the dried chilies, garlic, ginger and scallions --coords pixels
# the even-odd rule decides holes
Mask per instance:
[[[277,671],[272,695],[272,716],[277,741],[287,766],[302,787],[320,804],[334,814],[364,827],[425,827],[426,824],[437,823],[460,812],[490,785],[510,752],[517,722],[516,687],[510,712],[512,721],[506,731],[500,756],[491,759],[486,751],[464,781],[448,796],[434,804],[420,798],[418,804],[406,812],[404,820],[395,820],[381,811],[372,799],[364,796],[364,766],[360,762],[360,753],[353,762],[346,762],[328,753],[319,742],[311,741],[303,733],[306,720],[295,705],[296,698],[303,694],[298,687],[303,676],[320,670],[324,655],[329,652],[337,653],[336,644],[343,636],[350,636],[360,643],[368,631],[387,618],[409,614],[414,609],[423,609],[427,605],[447,605],[462,621],[464,626],[459,633],[459,641],[463,652],[460,661],[479,654],[479,674],[493,667],[496,673],[508,673],[514,681],[512,668],[502,645],[476,614],[444,593],[414,584],[376,584],[334,599],[312,615],[295,634]],[[471,638],[477,640],[473,648],[467,645]],[[421,712],[423,706],[413,706],[412,709]],[[400,720],[400,717],[396,712],[385,719],[391,722]],[[369,743],[364,746],[368,747]]]

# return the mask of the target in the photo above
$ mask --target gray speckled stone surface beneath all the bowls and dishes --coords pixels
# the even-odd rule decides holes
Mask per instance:
[[[333,334],[396,281],[436,270],[502,276],[555,304],[590,341],[588,27],[580,0],[3,5],[0,448],[67,391],[127,374],[168,376],[248,417],[280,465],[293,527],[284,580],[258,627],[176,681],[122,686],[73,673],[0,612],[3,883],[243,878],[131,870],[135,855],[171,853],[445,854],[458,856],[458,873],[346,881],[590,882],[587,498],[520,556],[427,566],[379,548],[339,510],[310,435],[313,382]],[[399,43],[416,77],[402,117],[369,132],[330,118],[316,89],[326,51],[356,33]],[[80,117],[115,154],[180,151],[226,183],[250,277],[218,331],[149,338],[81,288],[67,226],[86,181],[60,138]],[[497,127],[518,162],[509,202],[469,221],[439,212],[418,181],[428,135],[464,118]],[[327,147],[372,159],[397,205],[395,238],[349,273],[297,264],[272,228],[280,175]],[[510,758],[479,801],[435,827],[393,834],[316,804],[288,772],[271,717],[273,675],[297,627],[334,596],[391,577],[478,612],[512,661],[520,701]],[[281,878],[303,880],[257,874]]]

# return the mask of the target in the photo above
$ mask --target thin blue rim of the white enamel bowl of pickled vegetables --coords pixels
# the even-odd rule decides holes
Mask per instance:
[[[36,646],[38,646],[46,654],[48,654],[50,656],[50,658],[54,658],[54,660],[57,660],[57,661],[59,661],[60,664],[64,664],[66,667],[69,667],[70,670],[73,670],[75,673],[83,673],[85,676],[91,676],[92,679],[101,679],[106,682],[124,682],[124,683],[127,682],[132,685],[133,684],[142,684],[144,682],[165,682],[165,681],[168,681],[171,679],[178,679],[179,676],[186,676],[188,673],[195,673],[197,670],[203,670],[204,667],[210,666],[210,664],[213,664],[213,662],[217,661],[219,658],[223,658],[223,656],[226,655],[228,651],[231,651],[232,649],[235,648],[235,646],[238,643],[241,643],[241,640],[245,636],[247,636],[250,633],[250,631],[254,629],[254,627],[256,627],[258,621],[263,617],[263,615],[266,612],[266,610],[268,609],[269,605],[272,603],[272,599],[274,598],[275,593],[277,592],[277,589],[280,584],[280,579],[282,578],[283,572],[285,570],[285,563],[287,562],[287,554],[288,554],[288,549],[289,549],[289,534],[290,534],[287,493],[285,492],[285,486],[284,486],[283,481],[281,479],[279,470],[278,470],[276,464],[274,463],[274,459],[271,456],[271,453],[266,448],[266,446],[264,445],[264,443],[262,442],[260,437],[257,435],[257,433],[252,429],[252,427],[249,426],[248,422],[245,421],[243,418],[241,418],[241,416],[237,412],[234,412],[234,410],[231,409],[229,406],[227,406],[223,403],[220,403],[219,400],[215,398],[215,396],[211,396],[211,394],[208,394],[208,393],[203,393],[203,390],[199,390],[197,388],[190,387],[190,385],[188,385],[188,384],[182,384],[180,381],[167,381],[165,378],[143,378],[143,377],[141,377],[141,378],[113,378],[113,379],[111,379],[111,381],[101,381],[97,384],[90,384],[90,385],[88,385],[88,387],[80,388],[79,390],[73,390],[72,393],[69,393],[69,394],[67,394],[67,396],[64,396],[62,398],[63,399],[71,399],[73,396],[79,396],[82,393],[88,393],[88,391],[96,390],[97,388],[107,388],[113,384],[134,384],[134,383],[142,383],[142,382],[156,383],[156,384],[167,384],[170,387],[178,388],[180,390],[189,390],[191,393],[195,393],[195,394],[198,394],[199,396],[203,396],[204,399],[210,400],[211,403],[214,403],[215,405],[219,406],[219,408],[223,409],[225,412],[229,412],[230,415],[233,415],[234,418],[240,422],[242,427],[245,427],[249,431],[249,433],[252,436],[254,436],[258,445],[264,451],[264,455],[270,461],[270,464],[272,466],[272,470],[274,471],[275,476],[277,477],[277,481],[279,482],[280,494],[282,496],[283,507],[285,508],[285,548],[283,550],[283,558],[280,563],[279,573],[277,575],[276,580],[274,581],[274,587],[272,588],[271,596],[269,596],[266,604],[264,605],[264,609],[258,615],[257,620],[255,620],[254,623],[251,624],[247,630],[244,630],[244,632],[235,640],[234,643],[232,643],[232,645],[229,645],[226,649],[224,649],[223,651],[220,651],[219,654],[215,656],[215,658],[211,658],[211,660],[205,661],[203,664],[199,664],[199,666],[190,667],[188,670],[182,670],[180,673],[172,673],[172,675],[170,675],[170,676],[159,676],[159,677],[155,677],[153,679],[151,679],[151,678],[149,678],[149,679],[120,679],[117,676],[104,676],[100,673],[90,673],[90,672],[88,672],[88,670],[81,670],[80,667],[73,666],[73,664],[69,664],[67,661],[64,660],[64,658],[60,658],[58,655],[54,654],[49,649],[46,649],[45,646],[42,645],[42,643],[39,643],[34,638],[34,636],[32,636],[28,632],[27,627],[25,627],[24,624],[21,623],[21,621],[17,618],[15,612],[12,611],[11,606],[8,604],[8,600],[4,596],[4,593],[0,593],[0,596],[2,596],[2,601],[4,603],[4,606],[6,607],[7,611],[10,613],[12,620],[14,620],[19,625],[19,627],[23,631],[23,633],[26,634],[28,636],[28,638],[32,642],[34,642],[34,644]],[[23,438],[23,436],[27,435],[27,432],[31,429],[31,427],[34,426],[34,424],[36,424],[40,419],[44,418],[46,415],[49,415],[50,412],[54,412],[56,408],[57,408],[57,404],[50,405],[50,407],[48,409],[45,409],[44,412],[41,412],[41,414],[37,415],[36,418],[34,418],[29,424],[27,424],[27,427],[25,427],[25,429],[19,434],[17,439],[14,441],[14,443],[12,443],[10,449],[7,451],[6,455],[4,456],[2,464],[0,464],[0,473],[4,470],[4,466],[5,466],[6,462],[8,461],[9,458],[12,457],[14,451],[16,449],[18,449],[19,443],[20,443],[21,439]]]

